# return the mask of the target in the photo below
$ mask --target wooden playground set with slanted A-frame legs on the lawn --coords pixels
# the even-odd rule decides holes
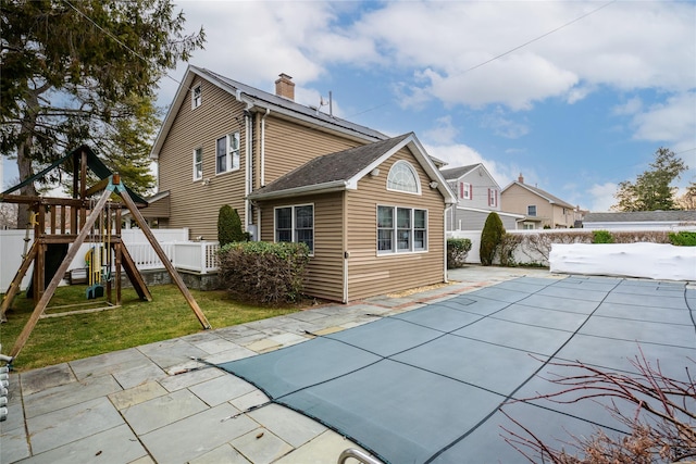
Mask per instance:
[[[23,185],[45,176],[49,171],[63,163],[72,164],[73,167],[73,198],[11,195]],[[88,168],[101,180],[87,186]],[[206,315],[138,210],[138,204],[144,205],[145,202],[137,195],[130,192],[121,181],[120,175],[111,173],[89,147],[82,146],[71,151],[33,178],[5,190],[0,195],[0,202],[28,205],[32,220],[27,227],[34,228],[32,247],[25,250],[22,264],[0,304],[0,319],[7,321],[5,313],[21,291],[22,279],[34,264],[32,283],[27,289],[27,297],[34,299],[34,311],[9,355],[1,358],[8,365],[12,364],[12,361],[24,348],[40,318],[103,311],[120,306],[122,272],[130,280],[140,300],[152,301],[152,296],[142,275],[130,258],[127,247],[121,240],[121,215],[125,209],[135,218],[201,326],[204,329],[210,328]],[[85,297],[87,300],[94,301],[85,303],[85,305],[90,305],[89,309],[79,309],[82,304],[74,304],[70,308],[61,306],[60,312],[50,312],[51,309],[48,304],[83,244],[88,246],[88,252],[84,255],[85,277],[88,284]],[[96,301],[101,302],[104,297],[103,306],[91,308],[95,306]],[[53,310],[57,308],[54,306]]]

